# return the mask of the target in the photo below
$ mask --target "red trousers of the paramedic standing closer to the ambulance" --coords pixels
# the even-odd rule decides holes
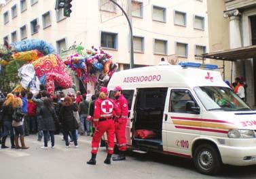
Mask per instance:
[[[126,151],[126,122],[127,119],[118,119],[115,122],[115,138],[119,151]]]

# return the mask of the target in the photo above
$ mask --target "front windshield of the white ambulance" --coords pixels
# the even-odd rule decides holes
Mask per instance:
[[[230,88],[219,86],[198,86],[196,95],[208,111],[250,111],[250,107]]]

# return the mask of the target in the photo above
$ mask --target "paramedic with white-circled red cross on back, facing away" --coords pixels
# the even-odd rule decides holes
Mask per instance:
[[[111,163],[111,155],[113,154],[113,148],[115,145],[115,124],[113,122],[113,113],[120,115],[120,109],[112,99],[107,97],[107,88],[101,87],[99,98],[95,101],[94,105],[93,124],[95,132],[92,137],[92,158],[87,162],[90,165],[96,165],[98,145],[104,132],[107,132],[108,140],[107,158],[104,163]]]

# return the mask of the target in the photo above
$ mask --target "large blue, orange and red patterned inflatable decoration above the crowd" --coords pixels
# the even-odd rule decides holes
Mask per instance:
[[[55,49],[50,43],[36,39],[19,41],[10,46],[1,45],[1,66],[6,66],[11,60],[27,62],[18,70],[21,80],[14,91],[29,89],[35,93],[39,91],[40,84],[50,94],[54,93],[56,87],[70,88],[73,84],[71,75],[65,68],[65,63],[54,52]]]

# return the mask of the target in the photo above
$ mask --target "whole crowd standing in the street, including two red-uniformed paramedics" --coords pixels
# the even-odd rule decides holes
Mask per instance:
[[[36,94],[0,92],[1,149],[10,148],[5,145],[8,136],[12,149],[29,149],[24,136],[30,134],[37,134],[38,141],[43,139],[41,149],[48,149],[49,141],[54,149],[54,134],[62,134],[67,148],[70,144],[78,147],[79,134],[87,135],[92,136],[92,157],[88,164],[95,165],[100,138],[107,132],[108,154],[104,162],[111,163],[115,137],[120,153],[113,160],[124,160],[128,103],[120,86],[115,88],[114,96],[115,99],[109,99],[105,87],[95,95],[81,95],[79,91],[76,95],[60,92],[51,97],[44,90]]]

